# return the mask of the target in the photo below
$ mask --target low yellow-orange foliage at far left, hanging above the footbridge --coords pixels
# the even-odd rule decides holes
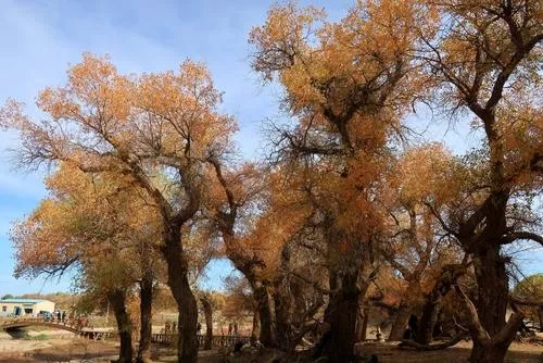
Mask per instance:
[[[16,274],[51,272],[75,260],[96,265],[109,254],[134,254],[138,243],[155,242],[155,211],[124,182],[61,164],[47,179],[50,197],[12,230]]]

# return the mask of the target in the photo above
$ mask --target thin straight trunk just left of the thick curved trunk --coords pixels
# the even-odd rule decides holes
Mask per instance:
[[[138,362],[151,360],[152,336],[152,305],[153,305],[153,274],[146,271],[140,281],[140,339],[138,348]]]

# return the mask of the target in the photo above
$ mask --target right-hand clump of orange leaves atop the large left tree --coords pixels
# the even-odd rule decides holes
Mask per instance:
[[[154,147],[165,154],[180,154],[187,146],[194,158],[231,149],[237,124],[217,112],[220,93],[204,65],[186,61],[178,73],[146,74],[136,88],[138,127],[160,141]]]

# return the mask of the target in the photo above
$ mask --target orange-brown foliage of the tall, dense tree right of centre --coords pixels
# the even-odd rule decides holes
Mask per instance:
[[[332,216],[344,235],[339,239],[354,242],[381,224],[376,200],[389,163],[386,145],[422,84],[412,50],[428,14],[413,2],[382,0],[358,1],[339,22],[324,15],[273,8],[251,33],[252,65],[265,79],[277,76],[285,109],[299,121],[293,132],[281,130],[285,149],[314,158],[300,176],[301,186],[308,179],[313,186],[308,204]]]

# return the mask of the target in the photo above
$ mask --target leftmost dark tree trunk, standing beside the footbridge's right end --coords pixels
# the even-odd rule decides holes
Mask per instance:
[[[130,316],[126,311],[126,291],[123,289],[115,289],[108,293],[115,320],[117,322],[117,331],[121,340],[121,348],[118,352],[119,363],[130,363],[132,361],[132,327]]]

